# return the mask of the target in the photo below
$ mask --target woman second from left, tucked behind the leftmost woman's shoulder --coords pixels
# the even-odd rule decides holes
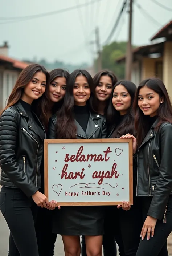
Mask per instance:
[[[46,86],[43,96],[32,104],[32,108],[40,118],[45,131],[48,130],[50,116],[55,114],[62,106],[69,78],[69,72],[63,69],[54,69],[49,74],[50,85]],[[44,193],[44,161],[41,164],[41,188],[39,191]],[[46,225],[42,225],[42,223],[46,223]],[[57,234],[52,233],[52,212],[40,208],[35,228],[39,256],[53,256]],[[46,244],[46,247],[42,244]]]

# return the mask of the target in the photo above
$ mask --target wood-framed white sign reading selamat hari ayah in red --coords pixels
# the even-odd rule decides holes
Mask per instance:
[[[61,206],[133,203],[132,139],[46,139],[45,195]]]

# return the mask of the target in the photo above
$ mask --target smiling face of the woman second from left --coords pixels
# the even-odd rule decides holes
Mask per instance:
[[[66,93],[66,78],[56,77],[49,86],[48,96],[49,99],[56,103],[64,98]]]

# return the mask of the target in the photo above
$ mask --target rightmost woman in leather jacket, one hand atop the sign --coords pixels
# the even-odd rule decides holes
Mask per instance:
[[[136,256],[167,256],[167,237],[172,231],[172,106],[158,78],[140,83],[134,101],[137,150],[137,190],[142,205],[143,228]]]

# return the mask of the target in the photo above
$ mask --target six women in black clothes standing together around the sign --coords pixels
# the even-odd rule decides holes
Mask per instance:
[[[44,139],[132,138],[134,204],[58,206],[44,195]],[[172,106],[165,85],[102,70],[32,64],[0,116],[0,210],[8,256],[167,256],[172,231]],[[52,210],[52,211],[51,211]],[[80,238],[82,236],[82,242]],[[82,245],[82,246],[81,246]]]

